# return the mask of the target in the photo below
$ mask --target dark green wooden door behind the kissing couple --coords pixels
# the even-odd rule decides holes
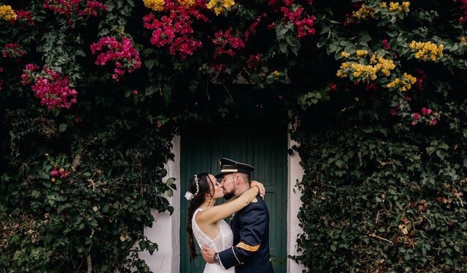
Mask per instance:
[[[180,159],[180,272],[203,272],[201,256],[190,263],[186,233],[188,202],[183,198],[190,177],[219,172],[218,159],[232,158],[253,165],[252,179],[266,187],[269,209],[269,244],[276,273],[286,272],[287,240],[287,129],[261,126],[212,126],[181,135]],[[197,252],[199,249],[197,246]]]

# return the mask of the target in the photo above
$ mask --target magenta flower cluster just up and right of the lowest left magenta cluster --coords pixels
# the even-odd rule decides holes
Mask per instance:
[[[133,46],[130,38],[123,37],[120,42],[114,37],[104,37],[91,45],[93,55],[97,56],[96,65],[104,66],[108,62],[114,62],[115,68],[112,78],[119,80],[126,71],[132,73],[141,67],[140,54]]]

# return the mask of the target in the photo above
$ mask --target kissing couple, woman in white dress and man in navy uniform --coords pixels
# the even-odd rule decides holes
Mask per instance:
[[[203,273],[273,273],[264,186],[250,182],[255,170],[252,166],[228,158],[219,162],[220,174],[193,176],[185,194],[190,202],[187,225],[190,260],[196,257],[194,237],[206,261]],[[229,201],[215,205],[221,198]],[[224,220],[229,216],[230,226]]]

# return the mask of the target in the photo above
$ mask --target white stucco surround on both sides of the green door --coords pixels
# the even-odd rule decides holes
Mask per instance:
[[[292,125],[289,124],[289,129]],[[287,136],[287,148],[298,145],[297,142]],[[167,176],[163,178],[166,181],[170,177],[180,177],[180,136],[173,136],[172,150],[174,159],[169,160],[164,168],[167,170]],[[300,155],[294,152],[287,158],[287,255],[297,255],[296,240],[303,229],[300,227],[300,221],[297,218],[302,202],[300,200],[302,194],[297,187],[297,181],[303,177],[304,171],[300,165]],[[180,180],[175,181],[177,189],[180,189]],[[145,236],[159,245],[157,252],[150,255],[147,251],[140,252],[140,258],[145,260],[149,268],[153,272],[160,273],[179,273],[180,270],[180,198],[183,195],[180,191],[174,191],[172,197],[165,196],[170,205],[174,207],[172,215],[168,212],[158,213],[153,210],[154,218],[152,227],[145,227]],[[167,263],[170,261],[169,263]],[[294,260],[287,259],[287,272],[295,273],[302,272],[305,269]]]

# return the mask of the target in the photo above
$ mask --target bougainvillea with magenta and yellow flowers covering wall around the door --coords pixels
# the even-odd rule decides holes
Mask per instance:
[[[149,271],[138,252],[163,246],[143,227],[173,212],[170,140],[208,110],[234,117],[242,83],[297,123],[307,271],[465,272],[466,10],[0,1],[1,267]]]

